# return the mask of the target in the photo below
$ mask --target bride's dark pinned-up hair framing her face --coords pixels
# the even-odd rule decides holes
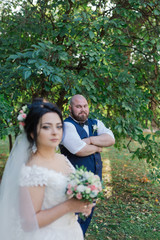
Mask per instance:
[[[37,142],[37,125],[44,114],[49,112],[57,113],[63,125],[62,113],[55,104],[35,101],[29,105],[28,108],[29,113],[24,121],[24,130],[31,145],[33,145],[34,142]],[[33,135],[33,138],[31,135]]]

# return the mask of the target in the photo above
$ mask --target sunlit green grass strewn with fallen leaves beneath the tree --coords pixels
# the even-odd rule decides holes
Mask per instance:
[[[8,155],[0,141],[0,170]],[[97,203],[86,240],[160,240],[160,185],[147,177],[147,165],[127,150],[102,153],[104,199]]]

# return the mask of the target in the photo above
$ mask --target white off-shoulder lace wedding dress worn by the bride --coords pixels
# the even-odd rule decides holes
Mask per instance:
[[[66,159],[67,160],[67,159]],[[67,175],[37,165],[24,165],[20,186],[45,186],[42,209],[51,208],[67,199],[65,194]],[[53,223],[36,231],[24,231],[19,223],[17,237],[20,240],[83,240],[83,233],[74,213],[68,213]]]

